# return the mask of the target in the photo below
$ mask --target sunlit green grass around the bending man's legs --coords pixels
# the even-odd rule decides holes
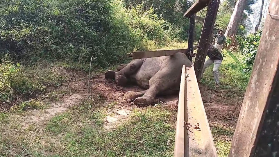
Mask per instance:
[[[245,92],[250,78],[250,73],[244,73],[243,57],[238,52],[223,50],[223,61],[220,66],[220,88]],[[213,65],[205,69],[201,82],[209,87],[214,87],[212,74]]]

